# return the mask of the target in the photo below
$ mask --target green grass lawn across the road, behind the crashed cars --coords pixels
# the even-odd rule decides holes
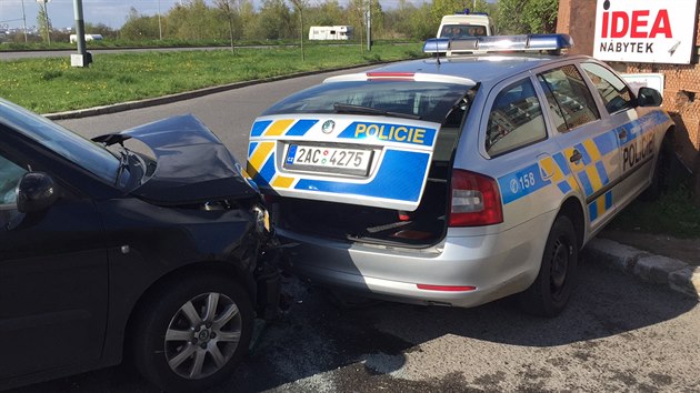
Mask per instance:
[[[161,97],[231,82],[422,57],[419,43],[94,54],[90,68],[61,58],[0,61],[0,97],[39,113]]]

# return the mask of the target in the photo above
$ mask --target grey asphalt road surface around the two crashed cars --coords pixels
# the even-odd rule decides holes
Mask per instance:
[[[87,135],[191,112],[244,160],[252,119],[319,81],[306,77],[129,112],[62,121]],[[347,310],[286,281],[286,319],[214,392],[700,391],[700,308],[668,289],[583,261],[569,308],[523,315],[510,299],[477,309],[376,303]],[[150,392],[118,366],[19,392]]]

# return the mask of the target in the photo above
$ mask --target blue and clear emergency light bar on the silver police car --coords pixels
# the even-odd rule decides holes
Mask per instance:
[[[453,38],[431,38],[423,44],[424,53],[488,53],[488,52],[523,52],[552,51],[573,47],[569,34],[529,34],[529,36],[482,36]]]

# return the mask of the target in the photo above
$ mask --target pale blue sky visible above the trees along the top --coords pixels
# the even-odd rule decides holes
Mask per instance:
[[[0,26],[10,28],[22,27],[22,1],[24,3],[24,13],[27,16],[27,26],[37,24],[37,13],[39,4],[37,0],[0,0]],[[311,3],[321,0],[311,0]],[[158,6],[164,13],[178,0],[82,0],[83,20],[90,23],[104,23],[112,28],[120,28],[127,20],[127,14],[131,7],[134,7],[139,13],[157,14]],[[211,1],[208,1],[211,3]],[[258,3],[259,1],[253,0]],[[343,3],[343,1],[340,1]],[[414,1],[421,3],[422,1]],[[381,0],[382,7],[393,8],[398,4],[398,0]],[[47,4],[51,24],[56,29],[68,28],[73,22],[73,0],[50,0]]]

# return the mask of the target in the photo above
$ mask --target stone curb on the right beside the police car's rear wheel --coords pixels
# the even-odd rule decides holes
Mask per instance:
[[[667,285],[673,291],[700,299],[698,266],[599,238],[586,245],[583,255],[596,263],[636,275],[642,281]]]

